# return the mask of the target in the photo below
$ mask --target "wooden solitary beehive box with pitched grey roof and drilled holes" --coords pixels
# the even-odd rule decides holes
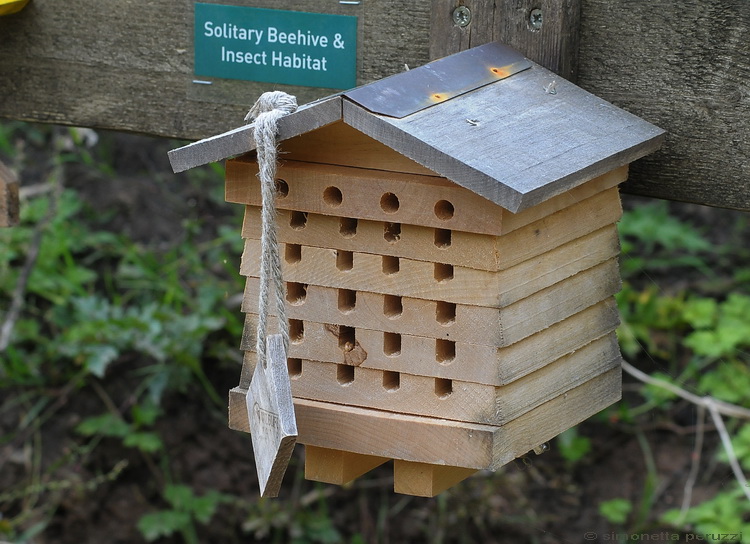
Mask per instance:
[[[279,121],[288,375],[305,475],[393,460],[398,493],[495,470],[620,398],[618,184],[663,131],[498,44]],[[250,431],[260,188],[252,127],[171,153],[245,206]]]

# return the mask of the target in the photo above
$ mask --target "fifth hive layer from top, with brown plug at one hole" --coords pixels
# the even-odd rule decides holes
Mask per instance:
[[[247,352],[255,350],[255,322],[253,314],[246,315],[241,349]],[[610,298],[498,349],[292,320],[289,357],[500,386],[580,349],[619,323],[617,305]]]

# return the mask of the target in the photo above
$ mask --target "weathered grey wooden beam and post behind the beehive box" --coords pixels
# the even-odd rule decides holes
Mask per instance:
[[[453,0],[231,3],[357,16],[358,84],[502,40],[668,132],[660,152],[633,165],[626,191],[750,210],[746,0],[685,0],[679,10],[671,0],[466,0],[472,17],[463,27]],[[0,17],[0,117],[199,139],[241,126],[272,88],[300,104],[333,91],[193,83],[192,9],[171,0],[69,0],[65,9],[34,0]]]

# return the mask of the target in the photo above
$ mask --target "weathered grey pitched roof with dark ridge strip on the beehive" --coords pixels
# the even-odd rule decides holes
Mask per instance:
[[[493,63],[495,57],[498,62]],[[511,212],[661,146],[665,133],[660,128],[519,58],[509,56],[507,48],[488,44],[322,99],[282,118],[279,140],[342,120]],[[513,70],[502,70],[504,79],[464,76],[511,65]],[[458,90],[443,93],[451,83],[446,76],[451,70],[459,80],[453,85]],[[460,81],[462,77],[473,78],[474,84]],[[429,91],[439,100],[400,108],[396,115],[401,117],[368,108],[383,111],[373,104],[382,106],[383,93],[398,101],[404,88]],[[248,125],[170,151],[169,157],[174,171],[180,172],[253,149]]]

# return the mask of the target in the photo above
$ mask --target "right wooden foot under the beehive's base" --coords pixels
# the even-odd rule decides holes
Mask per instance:
[[[476,469],[393,461],[393,490],[404,495],[434,497],[474,474]]]

